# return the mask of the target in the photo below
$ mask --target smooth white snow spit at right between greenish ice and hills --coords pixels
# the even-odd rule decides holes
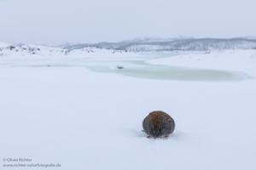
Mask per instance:
[[[201,69],[247,71],[255,76],[256,50],[225,50],[204,54],[182,54],[170,58],[151,59],[148,60],[148,63]]]

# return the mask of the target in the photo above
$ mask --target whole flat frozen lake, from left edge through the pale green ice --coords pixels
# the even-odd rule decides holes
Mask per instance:
[[[178,81],[242,81],[251,78],[241,71],[196,69],[172,65],[150,64],[151,59],[165,59],[169,55],[141,55],[139,57],[51,57],[0,60],[0,66],[11,67],[84,67],[90,71],[120,74],[128,77]]]

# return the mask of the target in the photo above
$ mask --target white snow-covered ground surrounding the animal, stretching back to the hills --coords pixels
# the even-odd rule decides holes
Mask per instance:
[[[0,57],[1,157],[58,162],[61,170],[256,168],[256,50],[79,54]],[[159,79],[143,77],[141,67],[140,76],[119,74],[116,65],[248,77]],[[141,131],[144,116],[155,110],[176,121],[169,139]]]

